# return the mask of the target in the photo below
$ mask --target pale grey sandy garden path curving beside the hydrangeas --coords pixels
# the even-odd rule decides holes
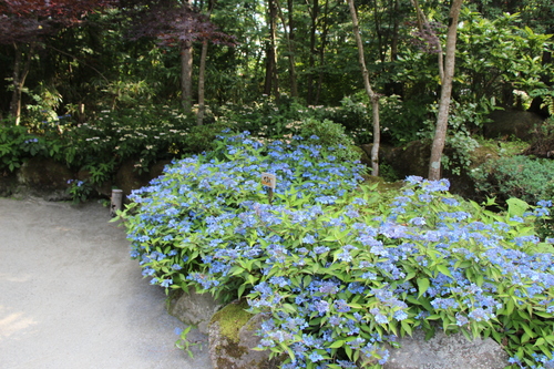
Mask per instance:
[[[212,369],[174,347],[184,325],[142,279],[125,232],[96,203],[0,198],[1,369]]]

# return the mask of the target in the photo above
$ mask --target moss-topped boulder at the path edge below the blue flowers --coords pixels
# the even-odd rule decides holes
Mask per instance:
[[[269,359],[269,351],[253,350],[259,346],[264,315],[245,311],[246,304],[229,304],[209,322],[209,357],[217,369],[275,369],[280,360]]]

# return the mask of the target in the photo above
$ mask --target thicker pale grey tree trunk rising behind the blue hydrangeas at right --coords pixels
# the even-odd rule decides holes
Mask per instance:
[[[433,145],[431,147],[431,161],[429,164],[429,180],[441,178],[441,157],[447,141],[447,129],[449,121],[450,98],[452,94],[452,80],[454,78],[455,41],[458,33],[458,18],[463,0],[453,0],[450,8],[449,29],[447,33],[447,55],[444,60],[444,76],[441,80],[441,100],[437,115],[437,127],[434,131]]]

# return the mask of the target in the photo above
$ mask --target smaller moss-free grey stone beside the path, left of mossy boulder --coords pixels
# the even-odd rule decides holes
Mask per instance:
[[[209,320],[222,306],[211,294],[192,290],[173,296],[167,310],[184,324],[195,326],[207,335]]]

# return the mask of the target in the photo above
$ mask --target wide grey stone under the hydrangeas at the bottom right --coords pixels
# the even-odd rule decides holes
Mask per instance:
[[[447,336],[438,329],[425,341],[418,329],[399,344],[401,348],[390,350],[384,369],[503,369],[509,365],[507,353],[491,338],[470,341],[461,332]]]

